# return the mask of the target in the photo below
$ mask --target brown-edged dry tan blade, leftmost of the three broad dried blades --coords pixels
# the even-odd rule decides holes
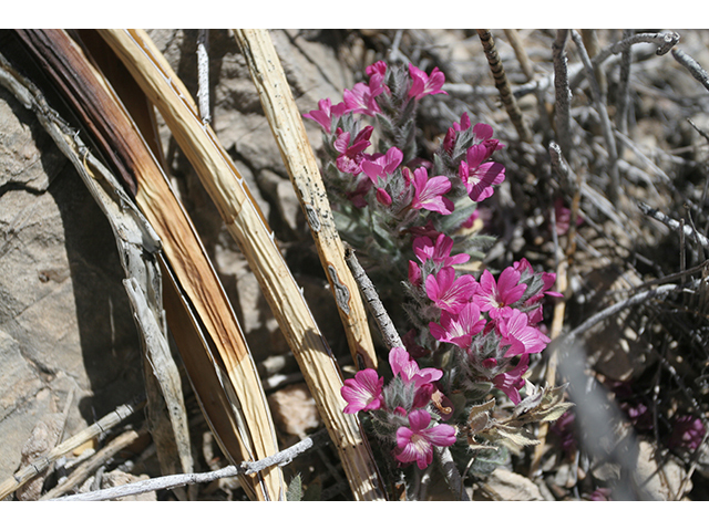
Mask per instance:
[[[217,415],[222,415],[219,428],[224,428],[222,431],[230,438],[229,451],[226,454],[236,462],[245,458],[256,460],[275,452],[277,440],[270,412],[234,310],[191,219],[169,187],[163,168],[141,136],[136,134],[136,125],[129,116],[123,102],[117,100],[103,73],[89,62],[66,32],[62,30],[19,31],[24,39],[40,46],[38,55],[47,59],[48,72],[56,72],[55,69],[64,64],[72,66],[65,72],[58,72],[58,76],[73,85],[80,98],[85,100],[85,105],[93,114],[101,115],[102,119],[112,125],[99,135],[107,137],[105,139],[111,143],[120,143],[120,147],[116,146],[116,153],[124,153],[119,158],[127,157],[127,159],[119,159],[116,163],[120,167],[127,165],[129,168],[124,169],[133,173],[140,184],[135,202],[155,232],[160,235],[165,257],[184,289],[186,300],[202,319],[199,326],[204,326],[208,337],[216,345],[220,361],[224,362],[223,365],[214,367],[214,358],[208,357],[196,342],[189,341],[189,350],[184,352],[185,365],[188,360],[193,364],[193,371],[191,371],[193,382],[198,379],[204,384],[205,378],[212,378],[208,382],[209,387],[205,389],[203,386],[202,391],[215,398],[205,402],[210,402],[208,407],[212,407],[212,410],[217,409]],[[49,50],[54,52],[54,49],[61,50],[62,53],[52,55],[48,52]],[[96,105],[93,105],[94,102]],[[162,254],[157,257],[162,262]],[[195,326],[193,320],[187,321],[178,315],[177,306],[182,308],[182,302],[166,305],[169,310],[169,313],[165,312],[167,319],[179,321],[179,324],[173,326],[176,336],[188,334]],[[215,369],[225,371],[228,374],[228,381],[236,389],[234,396],[244,412],[244,424],[248,427],[247,437],[234,435],[233,425],[227,425],[233,419],[224,418],[235,409],[233,407],[235,402],[232,396],[225,395],[226,391],[218,382],[215,384],[216,377],[213,377]],[[153,396],[156,395],[157,393]],[[213,407],[217,402],[219,404]],[[253,485],[250,485],[251,481]],[[245,489],[251,499],[280,499],[285,492],[281,471],[274,469],[265,471],[263,477],[248,478]]]

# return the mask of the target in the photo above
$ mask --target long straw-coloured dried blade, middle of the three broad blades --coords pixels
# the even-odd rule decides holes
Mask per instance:
[[[359,420],[345,415],[342,378],[330,348],[286,266],[263,214],[214,131],[150,37],[140,30],[100,30],[157,107],[177,144],[240,246],[314,395],[358,500],[384,499],[379,471]]]

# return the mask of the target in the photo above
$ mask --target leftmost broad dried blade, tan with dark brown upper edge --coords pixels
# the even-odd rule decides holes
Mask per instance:
[[[236,315],[218,281],[192,221],[174,196],[165,174],[145,146],[135,124],[113,94],[107,81],[63,31],[22,31],[18,33],[34,55],[44,61],[43,70],[68,96],[72,110],[92,133],[121,175],[133,184],[135,201],[160,236],[165,256],[182,289],[199,316],[209,341],[220,356],[228,379],[240,402],[248,439],[240,440],[243,452],[229,455],[242,460],[261,459],[275,454],[275,429],[256,368],[244,341]],[[181,350],[183,357],[191,356]],[[215,371],[199,366],[198,371]],[[199,393],[199,389],[196,389]],[[246,479],[253,499],[281,499],[285,493],[278,467],[263,477]]]

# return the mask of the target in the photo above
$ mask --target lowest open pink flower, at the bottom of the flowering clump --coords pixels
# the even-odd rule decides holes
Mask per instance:
[[[431,414],[415,409],[409,414],[409,426],[397,430],[395,458],[399,462],[415,461],[421,470],[433,461],[433,446],[451,446],[455,442],[455,428],[448,424],[429,427]]]

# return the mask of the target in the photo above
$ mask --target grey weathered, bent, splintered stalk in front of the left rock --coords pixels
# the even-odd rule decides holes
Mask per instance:
[[[91,154],[81,142],[79,134],[71,131],[59,115],[50,108],[41,93],[31,83],[14,72],[3,58],[0,58],[0,83],[12,92],[28,108],[34,111],[40,124],[52,137],[59,149],[72,163],[92,197],[106,216],[113,230],[119,257],[126,274],[124,287],[129,300],[133,304],[136,326],[145,340],[144,356],[150,363],[154,381],[160,386],[161,395],[153,399],[165,400],[169,418],[166,429],[154,434],[156,439],[166,438],[165,448],[169,451],[161,454],[168,468],[192,471],[192,451],[187,414],[182,394],[182,384],[177,366],[169,353],[164,323],[161,319],[161,275],[157,266],[146,257],[153,256],[161,248],[161,242],[150,223],[137,210],[133,201],[123,191],[117,179]],[[160,410],[157,406],[154,407]],[[119,417],[120,418],[120,417]],[[74,439],[70,439],[74,440]],[[64,445],[60,445],[64,447]],[[173,451],[174,448],[174,451]],[[45,466],[33,466],[35,471],[45,469],[61,454],[50,452],[43,458]],[[8,488],[13,490],[29,481],[24,471],[16,475],[18,485]],[[4,483],[3,483],[4,485]],[[9,493],[0,489],[0,499]]]

